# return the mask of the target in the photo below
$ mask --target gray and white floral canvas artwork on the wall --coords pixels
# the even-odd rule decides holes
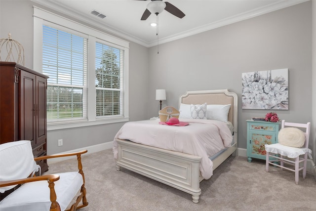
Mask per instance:
[[[288,69],[242,73],[242,109],[288,110]]]

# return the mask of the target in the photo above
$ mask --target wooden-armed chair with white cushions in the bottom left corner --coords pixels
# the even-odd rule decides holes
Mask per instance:
[[[68,153],[34,158],[31,142],[13,141],[0,145],[0,192],[12,193],[0,201],[1,211],[64,211],[80,191],[69,211],[88,205],[84,187],[81,154]],[[79,171],[36,176],[36,161],[49,158],[77,156]],[[82,200],[82,205],[79,205]],[[79,205],[79,206],[78,206]]]

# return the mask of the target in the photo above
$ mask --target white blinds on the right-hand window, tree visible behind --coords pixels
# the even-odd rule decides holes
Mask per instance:
[[[123,116],[124,50],[96,42],[96,117]]]

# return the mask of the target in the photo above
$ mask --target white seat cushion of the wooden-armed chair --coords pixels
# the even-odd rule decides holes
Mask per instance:
[[[57,173],[55,182],[57,202],[64,211],[83,184],[79,172]],[[49,211],[50,198],[47,181],[29,182],[22,185],[0,202],[1,211]]]

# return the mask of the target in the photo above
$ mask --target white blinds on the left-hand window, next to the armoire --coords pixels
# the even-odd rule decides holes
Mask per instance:
[[[87,39],[43,26],[47,120],[86,119]]]

